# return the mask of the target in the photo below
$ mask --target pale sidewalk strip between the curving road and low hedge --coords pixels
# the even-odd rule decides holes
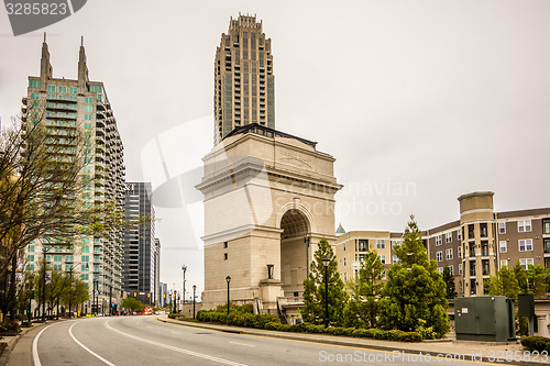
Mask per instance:
[[[441,341],[424,341],[419,343],[406,343],[406,342],[381,341],[371,339],[356,339],[356,337],[349,337],[341,335],[266,331],[266,330],[251,329],[251,328],[173,320],[168,319],[167,317],[160,317],[157,318],[157,320],[165,323],[172,323],[184,326],[194,326],[199,329],[208,329],[219,332],[322,343],[329,345],[383,351],[387,353],[398,352],[409,355],[425,355],[425,356],[429,354],[432,357],[436,357],[437,355],[443,355],[443,357],[444,355],[461,355],[461,356],[463,355],[464,356],[463,359],[465,361],[475,361],[475,362],[485,362],[495,364],[506,363],[508,365],[548,364],[548,359],[544,361],[540,356],[537,362],[532,362],[530,359],[527,361],[527,357],[524,355],[524,348],[519,342],[501,344],[501,343],[488,343],[488,342],[482,343],[472,341],[441,340]],[[507,355],[508,359],[510,361],[506,361]]]

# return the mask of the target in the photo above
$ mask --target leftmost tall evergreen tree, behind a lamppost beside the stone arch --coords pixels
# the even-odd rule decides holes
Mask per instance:
[[[337,325],[343,323],[343,310],[348,300],[348,293],[344,291],[344,282],[338,273],[338,263],[334,252],[329,242],[322,237],[319,241],[318,249],[315,252],[314,260],[309,269],[309,278],[304,280],[304,302],[305,307],[300,310],[305,322],[322,324],[324,322],[324,265],[323,258],[329,258],[328,270],[329,284],[329,320]]]

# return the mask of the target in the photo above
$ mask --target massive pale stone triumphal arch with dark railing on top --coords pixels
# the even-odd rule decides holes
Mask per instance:
[[[226,303],[228,276],[231,301],[256,311],[299,302],[317,243],[336,241],[334,158],[315,142],[249,124],[202,160],[202,309]]]

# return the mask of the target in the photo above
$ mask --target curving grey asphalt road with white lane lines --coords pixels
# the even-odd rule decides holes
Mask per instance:
[[[207,331],[162,323],[155,317],[114,317],[63,321],[33,330],[18,343],[8,365],[472,364],[449,361]]]

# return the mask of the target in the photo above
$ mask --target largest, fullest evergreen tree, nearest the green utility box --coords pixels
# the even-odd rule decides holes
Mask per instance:
[[[418,331],[426,339],[444,336],[449,331],[446,282],[436,260],[428,259],[414,215],[395,253],[399,263],[387,274],[380,300],[380,324],[387,330]]]

